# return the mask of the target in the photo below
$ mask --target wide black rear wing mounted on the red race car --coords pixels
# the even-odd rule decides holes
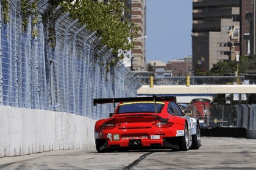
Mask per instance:
[[[174,101],[176,103],[176,97],[166,96],[166,97],[127,97],[127,98],[94,98],[93,106],[97,104],[106,104],[106,103],[120,103],[127,101]]]

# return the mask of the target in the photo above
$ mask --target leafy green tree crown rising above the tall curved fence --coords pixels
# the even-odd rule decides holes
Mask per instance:
[[[134,47],[132,30],[133,23],[123,17],[126,11],[124,0],[110,0],[108,4],[93,0],[77,0],[74,4],[69,1],[60,3],[63,12],[69,12],[70,17],[79,19],[81,25],[86,25],[91,32],[97,31],[97,36],[102,37],[101,42],[113,49],[114,61],[110,65],[122,60],[124,55]],[[130,40],[128,39],[130,38]],[[123,50],[118,55],[118,50]]]

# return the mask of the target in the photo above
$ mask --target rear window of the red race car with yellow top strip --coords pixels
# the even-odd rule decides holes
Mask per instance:
[[[157,112],[160,113],[165,106],[163,102],[156,102]],[[155,102],[154,101],[138,101],[138,102],[127,102],[119,105],[117,114],[126,113],[154,113]]]

